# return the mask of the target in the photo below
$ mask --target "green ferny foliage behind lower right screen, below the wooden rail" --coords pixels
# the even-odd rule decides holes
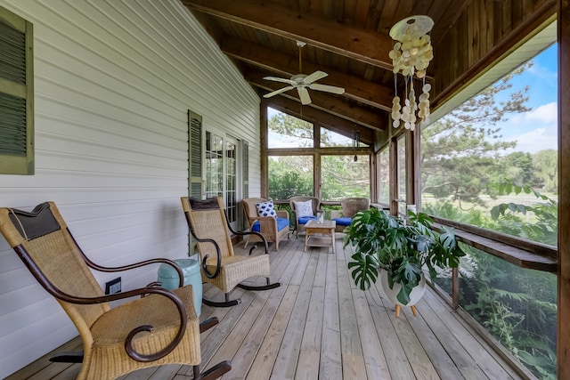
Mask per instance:
[[[465,248],[460,303],[534,375],[556,374],[556,276]],[[467,262],[467,263],[466,263]]]

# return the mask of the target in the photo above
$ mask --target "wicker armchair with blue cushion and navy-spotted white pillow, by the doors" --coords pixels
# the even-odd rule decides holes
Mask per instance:
[[[277,218],[273,216],[259,216],[256,204],[267,202],[264,198],[244,198],[241,200],[243,209],[248,217],[249,230],[261,233],[268,243],[275,243],[275,250],[279,251],[279,242],[285,238],[289,239],[289,213],[277,210]],[[256,235],[251,235],[246,240],[245,247],[249,243],[261,241]]]

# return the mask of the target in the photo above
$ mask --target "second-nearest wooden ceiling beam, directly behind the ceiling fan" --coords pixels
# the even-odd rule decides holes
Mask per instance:
[[[298,58],[286,53],[250,44],[247,41],[231,36],[224,37],[220,48],[222,52],[236,60],[247,62],[262,69],[268,69],[281,76],[291,77],[298,73]],[[303,72],[305,74],[310,74],[319,69],[325,70],[329,74],[329,77],[322,79],[319,83],[344,87],[344,95],[347,98],[386,111],[392,110],[394,89],[330,68],[324,69],[314,62],[303,60]]]

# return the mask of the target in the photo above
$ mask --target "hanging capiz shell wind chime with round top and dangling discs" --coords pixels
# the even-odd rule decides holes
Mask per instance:
[[[418,119],[422,124],[429,123],[431,85],[426,83],[426,69],[428,69],[429,61],[434,58],[431,39],[428,35],[433,26],[434,21],[428,16],[412,16],[397,22],[390,29],[390,36],[395,40],[394,49],[389,53],[394,66],[396,96],[392,101],[392,125],[395,128],[403,124],[406,129],[413,131]],[[400,97],[397,96],[398,74],[402,74],[404,81],[403,106],[400,104]],[[414,75],[421,82],[422,93],[418,100],[416,100],[413,85]]]

